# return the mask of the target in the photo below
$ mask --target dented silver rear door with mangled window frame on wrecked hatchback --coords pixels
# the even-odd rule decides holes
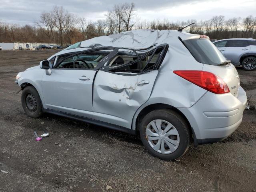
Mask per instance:
[[[136,110],[150,97],[166,46],[140,57],[140,61],[136,55],[119,51],[98,71],[93,91],[94,119],[131,128]]]

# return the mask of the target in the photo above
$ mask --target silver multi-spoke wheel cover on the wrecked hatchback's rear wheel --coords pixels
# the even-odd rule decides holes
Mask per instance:
[[[146,127],[146,137],[150,146],[161,154],[170,154],[178,148],[180,135],[166,120],[153,120]]]

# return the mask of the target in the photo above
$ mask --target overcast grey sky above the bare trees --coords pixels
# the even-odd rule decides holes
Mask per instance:
[[[141,20],[206,20],[216,15],[226,19],[256,17],[256,0],[0,0],[0,21],[34,25],[40,13],[51,10],[54,5],[96,21],[104,19],[114,4],[123,2],[134,2]]]

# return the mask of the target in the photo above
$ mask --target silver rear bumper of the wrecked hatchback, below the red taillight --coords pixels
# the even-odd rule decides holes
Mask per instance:
[[[195,143],[217,142],[230,136],[242,122],[247,104],[246,92],[238,88],[238,98],[231,93],[206,92],[190,108],[178,108],[193,129]]]

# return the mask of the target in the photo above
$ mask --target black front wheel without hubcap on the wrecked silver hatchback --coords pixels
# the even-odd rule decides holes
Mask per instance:
[[[21,94],[21,104],[28,116],[32,118],[42,116],[42,102],[37,90],[33,86],[24,88]]]

